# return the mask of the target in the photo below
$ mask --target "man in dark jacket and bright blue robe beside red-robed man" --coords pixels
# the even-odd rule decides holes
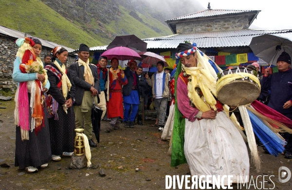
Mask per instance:
[[[137,62],[130,60],[125,70],[125,75],[128,79],[127,85],[123,86],[125,128],[134,128],[135,117],[138,111],[138,105],[140,104],[139,77],[135,71],[136,68]],[[131,107],[132,111],[130,113]]]

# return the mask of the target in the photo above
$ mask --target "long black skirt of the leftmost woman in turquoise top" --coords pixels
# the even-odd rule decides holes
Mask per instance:
[[[28,93],[29,103],[30,96],[30,93]],[[15,166],[19,166],[19,169],[25,169],[29,166],[39,167],[48,163],[52,158],[49,123],[45,109],[46,103],[44,102],[45,126],[41,127],[41,130],[38,131],[37,135],[35,130],[32,132],[29,131],[29,140],[21,140],[20,127],[16,126]],[[29,122],[31,122],[31,109],[29,109],[29,113]]]

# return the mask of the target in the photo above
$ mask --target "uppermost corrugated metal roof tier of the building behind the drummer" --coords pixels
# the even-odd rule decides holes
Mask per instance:
[[[207,9],[204,11],[200,11],[197,13],[192,13],[189,15],[185,15],[182,17],[176,17],[176,18],[171,18],[167,21],[171,21],[171,20],[181,20],[181,19],[186,19],[186,18],[198,18],[198,17],[211,17],[211,16],[216,16],[216,15],[226,15],[226,14],[233,14],[233,13],[244,13],[244,12],[252,12],[255,10],[224,10],[224,9]]]

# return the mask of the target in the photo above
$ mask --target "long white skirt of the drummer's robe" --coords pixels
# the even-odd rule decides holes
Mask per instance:
[[[249,178],[249,157],[243,138],[224,112],[215,120],[185,119],[184,155],[192,175],[233,175],[233,183]],[[204,179],[205,180],[205,179]],[[227,178],[224,185],[228,185]]]

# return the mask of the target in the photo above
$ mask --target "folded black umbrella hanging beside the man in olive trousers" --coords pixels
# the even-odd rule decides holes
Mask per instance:
[[[100,102],[99,97],[97,96],[97,103]],[[99,134],[100,134],[100,121],[102,116],[103,110],[96,106],[93,102],[92,109],[91,109],[91,122],[92,122],[92,129],[94,135],[96,137],[97,143],[99,143]]]

